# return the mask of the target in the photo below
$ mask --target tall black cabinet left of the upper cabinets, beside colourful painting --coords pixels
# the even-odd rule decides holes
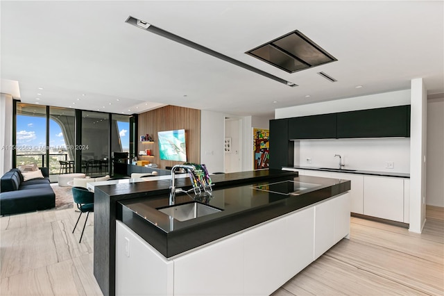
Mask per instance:
[[[294,142],[288,138],[289,120],[270,120],[270,168],[280,170],[294,165]]]

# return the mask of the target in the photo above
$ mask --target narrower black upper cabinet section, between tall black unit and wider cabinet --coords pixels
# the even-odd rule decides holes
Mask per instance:
[[[289,140],[335,138],[336,113],[289,118]]]

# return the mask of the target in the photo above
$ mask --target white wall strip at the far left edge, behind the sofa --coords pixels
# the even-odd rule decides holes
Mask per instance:
[[[0,176],[12,168],[12,96],[0,94]]]

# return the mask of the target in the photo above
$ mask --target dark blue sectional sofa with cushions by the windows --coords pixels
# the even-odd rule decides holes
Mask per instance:
[[[12,169],[1,177],[0,215],[40,211],[56,206],[48,168],[40,167],[40,170],[44,178],[24,181],[18,169]]]

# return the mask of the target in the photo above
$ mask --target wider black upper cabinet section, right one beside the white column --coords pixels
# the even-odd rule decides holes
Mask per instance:
[[[338,138],[410,136],[410,106],[337,113]]]

